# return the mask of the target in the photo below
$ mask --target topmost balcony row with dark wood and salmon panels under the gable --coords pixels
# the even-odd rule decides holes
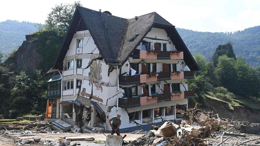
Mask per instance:
[[[134,50],[133,58],[140,59],[183,59],[183,52],[180,51],[151,51]]]

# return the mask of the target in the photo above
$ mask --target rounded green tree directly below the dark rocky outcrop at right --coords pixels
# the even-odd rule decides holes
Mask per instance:
[[[220,84],[231,91],[236,91],[237,88],[237,72],[234,64],[234,58],[223,55],[219,57],[219,64],[215,70]]]

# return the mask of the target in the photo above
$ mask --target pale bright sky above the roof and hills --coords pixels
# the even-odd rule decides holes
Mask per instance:
[[[0,2],[0,22],[6,19],[44,23],[55,4],[73,0],[9,0]],[[157,12],[178,28],[226,32],[260,25],[260,0],[81,0],[84,7],[133,18]]]

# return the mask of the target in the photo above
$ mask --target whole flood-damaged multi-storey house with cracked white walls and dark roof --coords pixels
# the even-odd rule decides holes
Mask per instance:
[[[125,19],[83,7],[53,69],[48,119],[109,132],[109,119],[121,114],[122,133],[180,121],[176,106],[187,108],[195,96],[187,80],[199,70],[175,26],[156,12]]]

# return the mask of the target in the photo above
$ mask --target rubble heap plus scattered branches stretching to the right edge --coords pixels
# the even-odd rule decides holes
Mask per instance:
[[[231,136],[244,139],[246,137],[245,134],[227,133],[228,130],[223,131],[226,129],[228,122],[221,120],[218,114],[201,112],[197,108],[197,104],[195,108],[188,109],[187,112],[189,113],[188,118],[182,120],[181,124],[177,125],[171,121],[166,121],[162,126],[153,125],[148,134],[135,141],[130,141],[127,146],[219,146],[224,145],[225,141]],[[223,139],[223,137],[226,137],[226,139]],[[260,139],[260,137],[251,137],[248,141],[241,141],[242,138],[240,141],[233,139],[229,145],[233,142],[234,146],[238,146]]]

